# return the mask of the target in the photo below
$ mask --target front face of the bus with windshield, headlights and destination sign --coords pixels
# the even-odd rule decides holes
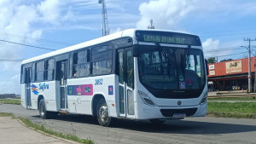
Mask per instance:
[[[200,38],[177,32],[137,31],[137,118],[207,114],[207,74]]]

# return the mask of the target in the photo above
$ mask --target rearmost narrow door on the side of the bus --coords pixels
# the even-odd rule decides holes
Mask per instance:
[[[31,105],[31,79],[32,79],[32,68],[26,68],[26,108],[32,108]]]

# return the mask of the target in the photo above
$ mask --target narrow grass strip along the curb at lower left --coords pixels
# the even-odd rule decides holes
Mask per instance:
[[[39,125],[39,124],[33,124],[30,120],[26,119],[26,118],[19,118],[24,124],[26,124],[28,127],[31,127],[35,130],[40,130],[43,131],[44,133],[47,133],[49,135],[55,135],[67,140],[71,140],[71,141],[77,141],[80,143],[85,143],[85,144],[94,144],[93,141],[91,140],[84,140],[79,138],[77,135],[72,135],[72,134],[63,134],[61,132],[56,132],[54,130],[49,130],[46,129],[43,125]]]

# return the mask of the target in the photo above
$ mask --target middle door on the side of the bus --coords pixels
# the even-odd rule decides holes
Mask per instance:
[[[57,61],[57,75],[60,81],[61,110],[67,110],[67,60]]]

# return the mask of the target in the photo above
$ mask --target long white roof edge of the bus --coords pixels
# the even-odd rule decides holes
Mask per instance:
[[[119,37],[135,37],[135,32],[138,31],[138,30],[139,29],[127,29],[125,31],[116,32],[116,33],[110,34],[110,35],[105,36],[105,37],[99,37],[99,38],[92,39],[92,40],[84,42],[84,43],[75,44],[73,46],[70,46],[70,47],[67,47],[67,48],[64,48],[64,49],[58,49],[58,50],[49,52],[49,53],[44,54],[44,55],[38,55],[38,56],[32,57],[32,58],[27,59],[27,60],[22,60],[21,64],[30,63],[30,62],[36,61],[36,60],[42,60],[42,59],[52,57],[52,56],[55,56],[55,55],[65,54],[65,53],[73,51],[73,50],[83,49],[85,47],[90,47],[92,45],[96,45],[96,44],[99,44],[99,43],[108,42],[108,41],[111,41],[111,40],[119,38]],[[173,31],[158,30],[158,29],[141,30],[141,31],[173,32]],[[178,33],[185,33],[185,32],[178,32]],[[190,34],[190,33],[186,33],[186,34]],[[191,35],[194,35],[194,34],[191,34]]]

